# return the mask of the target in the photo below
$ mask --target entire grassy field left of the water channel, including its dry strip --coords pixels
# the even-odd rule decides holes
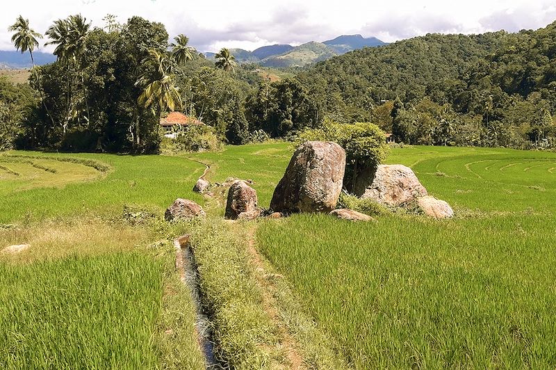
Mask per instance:
[[[203,167],[159,156],[8,156],[1,164],[17,175],[0,176],[0,248],[31,247],[0,252],[0,367],[204,368],[195,308],[174,271],[177,225],[162,220],[175,198],[200,198],[191,188]]]

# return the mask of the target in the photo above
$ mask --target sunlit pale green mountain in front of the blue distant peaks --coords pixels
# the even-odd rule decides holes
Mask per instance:
[[[263,67],[302,67],[307,64],[325,61],[338,53],[321,42],[307,42],[294,47],[279,56],[271,56],[261,61]]]

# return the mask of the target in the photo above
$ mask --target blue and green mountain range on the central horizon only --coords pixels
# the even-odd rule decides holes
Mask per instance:
[[[325,61],[332,56],[363,47],[387,45],[377,38],[363,38],[361,35],[341,35],[325,42],[307,42],[293,47],[291,45],[269,45],[253,51],[230,49],[238,63],[257,63],[263,67],[302,67]],[[205,53],[206,58],[214,58],[215,53]]]

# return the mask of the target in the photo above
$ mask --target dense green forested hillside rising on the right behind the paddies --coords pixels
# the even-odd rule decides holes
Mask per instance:
[[[552,146],[556,22],[537,31],[432,34],[300,73],[325,114],[405,143]]]

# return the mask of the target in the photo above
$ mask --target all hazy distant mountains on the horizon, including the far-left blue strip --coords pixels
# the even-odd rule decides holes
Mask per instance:
[[[361,35],[341,35],[325,42],[307,42],[293,47],[291,45],[268,45],[253,51],[230,49],[238,63],[257,63],[263,67],[301,67],[332,56],[342,55],[348,51],[363,49],[363,47],[378,47],[386,45],[377,38],[363,38]],[[206,58],[213,59],[215,53],[205,53]],[[49,53],[35,51],[33,53],[36,65],[54,63],[56,56]],[[0,51],[0,70],[22,69],[31,67],[28,53],[19,51]]]

